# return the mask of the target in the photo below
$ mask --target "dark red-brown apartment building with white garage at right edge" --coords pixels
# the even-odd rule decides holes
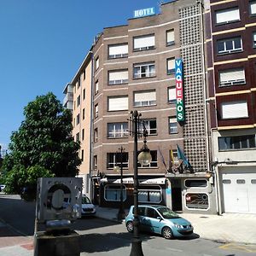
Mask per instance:
[[[218,212],[256,213],[256,1],[210,3],[207,108]]]

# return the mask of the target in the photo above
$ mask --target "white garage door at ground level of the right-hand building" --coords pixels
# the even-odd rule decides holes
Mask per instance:
[[[256,167],[220,170],[224,212],[256,213]]]

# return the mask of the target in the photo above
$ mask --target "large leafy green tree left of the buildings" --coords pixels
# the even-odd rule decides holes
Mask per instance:
[[[72,137],[70,110],[63,108],[55,95],[49,92],[29,102],[24,108],[24,115],[25,120],[19,130],[13,132],[10,138],[10,153],[3,160],[8,177],[7,190],[20,194],[21,186],[27,183],[17,183],[15,179],[19,175],[30,180],[31,186],[35,185],[37,175],[33,172],[38,172],[38,168],[44,177],[77,175],[81,163],[80,145]],[[31,169],[33,166],[37,167]],[[33,181],[30,177],[34,177]]]

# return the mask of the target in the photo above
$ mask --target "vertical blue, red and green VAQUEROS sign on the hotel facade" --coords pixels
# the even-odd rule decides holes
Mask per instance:
[[[184,100],[183,100],[183,61],[182,59],[175,60],[175,80],[176,80],[176,110],[177,121],[183,122],[184,117]]]

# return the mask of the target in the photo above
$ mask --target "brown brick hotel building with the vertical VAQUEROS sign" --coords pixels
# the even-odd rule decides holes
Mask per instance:
[[[152,155],[149,166],[138,168],[139,202],[163,204],[175,211],[217,212],[206,110],[203,20],[207,6],[207,1],[170,1],[161,4],[160,14],[150,7],[137,10],[137,15],[148,15],[104,28],[97,36],[91,49],[90,175],[91,197],[102,207],[119,206],[120,174],[113,166],[121,163],[125,207],[133,203],[130,119],[131,111],[137,110],[148,130]],[[177,103],[182,108],[177,109]],[[76,125],[75,114],[74,118]],[[138,148],[142,147],[140,137]],[[125,148],[122,153],[120,148]],[[179,160],[179,148],[189,168]]]

